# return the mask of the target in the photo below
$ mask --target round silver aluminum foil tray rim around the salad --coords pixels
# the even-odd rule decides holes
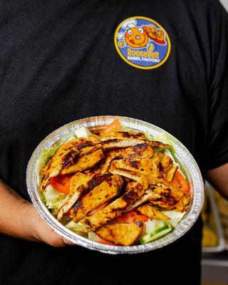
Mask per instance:
[[[161,128],[158,128],[150,123],[146,123],[142,120],[113,115],[84,118],[63,125],[61,128],[53,131],[53,133],[42,140],[31,155],[31,159],[28,161],[26,170],[28,194],[30,195],[31,201],[36,207],[38,213],[49,224],[49,226],[62,237],[79,246],[107,254],[136,254],[165,247],[182,237],[192,227],[201,212],[202,204],[204,202],[204,183],[197,162],[195,162],[195,159],[192,157],[187,148],[182,145],[179,140],[168,133],[167,134],[170,136],[172,144],[175,147],[175,159],[180,163],[182,171],[185,172],[187,180],[190,182],[190,208],[180,224],[178,224],[178,226],[172,232],[170,232],[170,234],[167,234],[165,237],[162,237],[155,242],[130,247],[120,247],[90,241],[89,239],[81,237],[80,235],[72,232],[70,229],[67,229],[60,222],[58,222],[57,219],[53,217],[51,212],[48,211],[42,200],[41,193],[38,190],[36,180],[36,160],[38,160],[40,157],[41,150],[43,148],[50,148],[54,142],[57,142],[60,138],[69,135],[74,130],[81,128],[82,126],[85,126],[90,130],[96,130],[102,125],[108,125],[116,118],[118,118],[121,125],[125,127],[140,130],[142,132],[148,132],[151,135],[157,135],[160,132],[164,132],[164,130]]]

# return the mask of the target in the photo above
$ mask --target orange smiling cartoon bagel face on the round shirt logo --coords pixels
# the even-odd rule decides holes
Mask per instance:
[[[128,31],[125,32],[125,41],[128,43],[128,46],[142,48],[147,45],[148,36],[142,28],[128,28]]]

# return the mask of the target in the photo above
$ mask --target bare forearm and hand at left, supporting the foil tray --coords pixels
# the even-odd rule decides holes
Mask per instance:
[[[22,199],[2,180],[0,180],[0,209],[2,234],[33,242],[45,242],[53,247],[71,244],[41,219],[33,204]]]

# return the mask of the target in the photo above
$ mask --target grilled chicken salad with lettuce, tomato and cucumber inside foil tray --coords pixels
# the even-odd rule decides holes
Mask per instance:
[[[43,149],[36,162],[43,202],[71,231],[131,246],[172,232],[190,205],[190,187],[166,133],[155,138],[119,120],[82,127]]]

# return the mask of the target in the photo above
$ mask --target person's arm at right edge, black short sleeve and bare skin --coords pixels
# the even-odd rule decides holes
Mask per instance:
[[[205,175],[209,183],[228,199],[228,14],[219,1],[214,1],[211,7],[213,18],[217,17],[217,24],[211,30],[212,78],[208,88]]]

